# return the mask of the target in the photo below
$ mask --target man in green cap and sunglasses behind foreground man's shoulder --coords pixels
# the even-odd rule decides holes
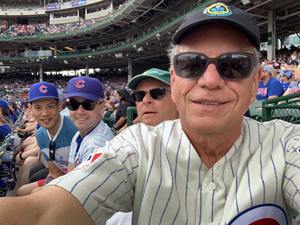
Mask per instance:
[[[133,89],[138,118],[133,123],[142,122],[156,126],[166,120],[178,119],[175,103],[171,99],[170,72],[152,68],[133,77],[128,87]]]

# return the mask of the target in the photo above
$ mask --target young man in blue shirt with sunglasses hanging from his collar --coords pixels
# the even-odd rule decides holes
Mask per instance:
[[[62,101],[54,84],[39,82],[30,87],[29,108],[41,128],[36,139],[49,168],[45,180],[22,186],[17,196],[28,195],[34,189],[67,173],[71,141],[77,128],[69,117],[60,115]],[[20,158],[22,155],[20,155]],[[35,190],[35,191],[36,191]]]

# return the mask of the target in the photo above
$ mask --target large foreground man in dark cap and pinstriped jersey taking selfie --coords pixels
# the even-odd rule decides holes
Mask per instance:
[[[243,117],[261,77],[256,21],[215,3],[187,15],[172,42],[180,119],[133,125],[30,199],[1,199],[5,224],[16,204],[20,224],[105,224],[130,210],[142,225],[290,223],[300,128]]]

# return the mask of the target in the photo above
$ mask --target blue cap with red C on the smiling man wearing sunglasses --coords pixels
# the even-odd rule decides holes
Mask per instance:
[[[92,77],[75,77],[69,80],[66,98],[82,97],[96,101],[104,98],[101,82]]]

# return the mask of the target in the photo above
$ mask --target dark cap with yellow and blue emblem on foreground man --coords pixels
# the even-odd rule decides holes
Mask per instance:
[[[212,23],[226,23],[238,28],[259,50],[260,32],[254,17],[235,6],[228,6],[221,2],[187,14],[177,32],[173,35],[172,43],[178,44],[196,27]]]

